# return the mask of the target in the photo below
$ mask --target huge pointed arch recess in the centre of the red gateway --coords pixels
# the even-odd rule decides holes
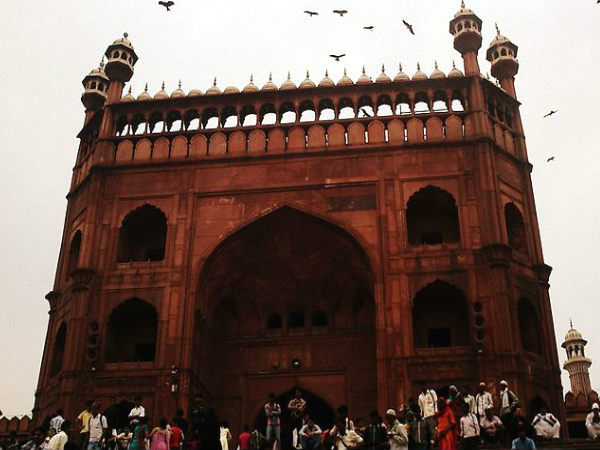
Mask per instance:
[[[377,405],[373,284],[365,251],[327,221],[284,207],[242,228],[202,271],[192,389],[234,429],[268,393],[298,385],[366,415]]]

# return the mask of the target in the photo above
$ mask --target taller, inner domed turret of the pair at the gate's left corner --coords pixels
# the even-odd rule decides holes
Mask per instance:
[[[107,102],[109,104],[117,103],[121,101],[125,83],[131,80],[133,66],[138,60],[133,45],[128,39],[128,34],[123,33],[122,38],[109,45],[105,56],[108,58],[105,71],[110,79]]]

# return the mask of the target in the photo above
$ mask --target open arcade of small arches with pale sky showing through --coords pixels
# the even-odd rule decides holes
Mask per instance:
[[[318,103],[304,100],[297,103],[266,103],[255,105],[229,105],[222,109],[207,107],[204,110],[155,111],[132,114],[117,119],[117,136],[158,134],[165,132],[196,131],[200,129],[255,127],[316,121],[351,120],[360,117],[393,117],[431,113],[461,113],[466,110],[465,99],[459,90],[453,93],[434,91],[416,94],[398,94],[394,100],[383,94],[374,99],[343,97],[337,104],[331,99]]]

